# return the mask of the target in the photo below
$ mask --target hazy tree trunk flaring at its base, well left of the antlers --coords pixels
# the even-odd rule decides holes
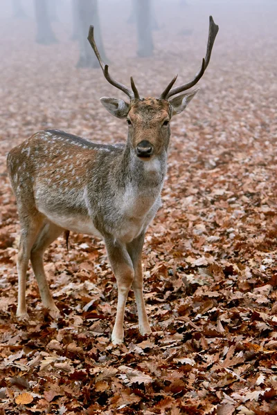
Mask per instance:
[[[47,0],[35,0],[35,17],[37,20],[36,42],[44,45],[57,42],[51,28],[46,1]]]

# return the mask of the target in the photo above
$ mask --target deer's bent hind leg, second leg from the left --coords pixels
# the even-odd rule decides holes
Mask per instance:
[[[46,280],[46,275],[44,273],[44,264],[43,256],[46,248],[57,239],[62,233],[63,228],[55,225],[52,222],[44,223],[44,226],[41,228],[37,239],[33,244],[33,247],[30,252],[30,261],[33,267],[35,278],[37,279],[37,284],[39,286],[39,293],[42,297],[42,304],[44,307],[48,308],[53,317],[60,315],[60,311],[55,306],[55,302],[51,295],[51,291]]]

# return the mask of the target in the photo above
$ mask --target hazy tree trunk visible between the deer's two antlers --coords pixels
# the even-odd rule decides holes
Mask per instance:
[[[153,54],[151,5],[149,0],[136,0],[136,28],[138,33],[138,51],[140,57]]]

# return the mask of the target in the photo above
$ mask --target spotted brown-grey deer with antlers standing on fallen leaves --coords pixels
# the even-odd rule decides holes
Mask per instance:
[[[109,84],[128,102],[100,98],[111,115],[126,120],[125,144],[97,144],[64,131],[48,129],[10,150],[8,176],[17,201],[21,234],[17,255],[17,317],[28,318],[26,273],[30,260],[42,304],[59,317],[44,273],[43,256],[62,232],[92,234],[105,242],[118,288],[111,342],[124,340],[124,314],[132,288],[141,335],[151,333],[143,297],[142,251],[145,232],[161,207],[170,143],[170,120],[186,108],[199,88],[219,28],[210,17],[206,57],[192,81],[175,86],[177,75],[159,98],[142,98],[131,77],[131,88],[114,80],[102,62],[89,28],[88,40]],[[186,93],[184,93],[186,91]],[[181,93],[181,95],[179,95]],[[174,98],[172,98],[174,95]],[[171,98],[171,99],[170,99]]]

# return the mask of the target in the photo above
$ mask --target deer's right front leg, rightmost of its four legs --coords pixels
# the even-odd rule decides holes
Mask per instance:
[[[136,307],[139,315],[139,331],[142,335],[152,333],[146,314],[145,302],[143,298],[143,270],[141,265],[141,254],[143,250],[145,234],[139,235],[134,241],[127,244],[127,251],[132,259],[134,266],[134,296],[136,298]]]

